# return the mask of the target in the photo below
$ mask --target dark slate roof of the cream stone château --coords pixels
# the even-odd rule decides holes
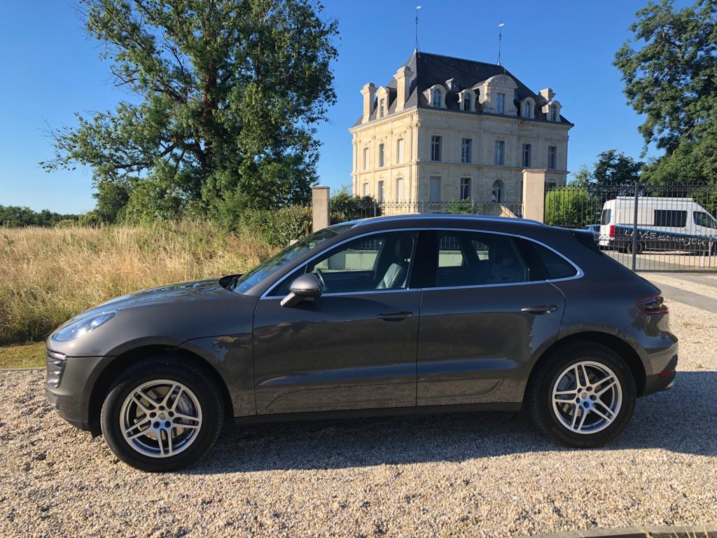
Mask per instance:
[[[414,52],[404,65],[412,71],[409,98],[404,105],[404,110],[414,107],[432,108],[423,95],[424,90],[427,90],[434,84],[441,84],[445,88],[446,80],[451,78],[460,90],[465,90],[465,88],[473,88],[473,86],[495,75],[508,75],[515,80],[518,85],[516,101],[521,101],[526,97],[532,97],[533,100],[536,101],[535,118],[532,118],[531,121],[548,121],[546,114],[541,110],[541,103],[544,103],[543,98],[539,94],[531,91],[518,77],[502,65],[463,60],[462,58],[435,55],[429,52]],[[388,114],[390,115],[396,111],[396,80],[391,77],[391,80],[385,86],[389,90]],[[460,110],[458,103],[458,93],[460,90],[447,90],[445,105],[448,110]],[[518,110],[520,110],[519,105]],[[483,114],[483,112],[476,110],[476,112],[472,114]],[[374,107],[374,110],[371,112],[371,118],[369,119],[375,120],[377,115],[378,107]],[[561,123],[573,125],[563,115],[560,115],[560,121]],[[359,116],[359,119],[353,124],[353,127],[359,125],[361,125],[361,116]]]

